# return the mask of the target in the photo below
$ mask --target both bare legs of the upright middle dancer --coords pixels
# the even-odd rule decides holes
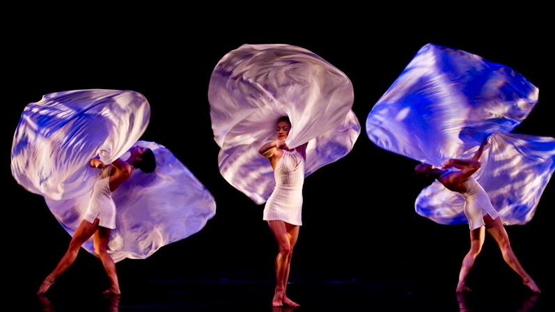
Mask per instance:
[[[283,306],[283,304],[299,306],[286,296],[292,251],[297,243],[297,237],[299,237],[299,226],[287,224],[283,221],[268,221],[268,224],[279,247],[279,253],[276,257],[276,289],[272,306]]]

